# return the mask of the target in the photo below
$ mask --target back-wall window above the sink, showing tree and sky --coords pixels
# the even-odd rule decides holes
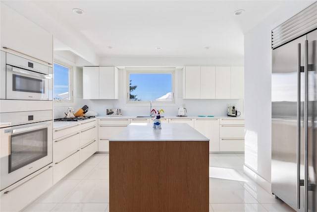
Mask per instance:
[[[174,69],[127,71],[128,102],[174,102]]]

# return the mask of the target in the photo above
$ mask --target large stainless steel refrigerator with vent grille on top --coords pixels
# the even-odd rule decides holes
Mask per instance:
[[[317,212],[317,3],[272,30],[272,193]]]

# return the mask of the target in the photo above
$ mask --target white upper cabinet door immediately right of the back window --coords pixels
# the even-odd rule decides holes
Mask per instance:
[[[184,98],[200,99],[200,67],[185,67]]]

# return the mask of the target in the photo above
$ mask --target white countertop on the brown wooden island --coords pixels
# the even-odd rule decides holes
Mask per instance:
[[[162,123],[162,129],[153,129],[151,123],[133,123],[109,141],[209,141],[188,124]]]

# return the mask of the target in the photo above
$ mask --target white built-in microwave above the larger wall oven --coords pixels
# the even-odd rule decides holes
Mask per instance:
[[[52,67],[28,59],[1,52],[1,64],[5,54],[5,69],[1,68],[1,99],[53,100]],[[5,73],[3,73],[5,71]]]

